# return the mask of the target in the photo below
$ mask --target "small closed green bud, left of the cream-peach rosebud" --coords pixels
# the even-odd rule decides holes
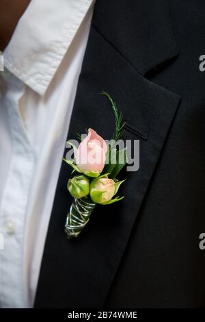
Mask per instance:
[[[68,180],[68,191],[72,197],[79,199],[86,197],[90,192],[90,181],[85,175],[76,175]]]

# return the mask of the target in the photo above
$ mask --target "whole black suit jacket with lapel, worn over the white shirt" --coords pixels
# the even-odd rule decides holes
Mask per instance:
[[[124,201],[97,207],[68,241],[62,164],[36,308],[205,306],[204,15],[202,0],[96,1],[68,138],[87,127],[111,137],[106,90],[124,139],[140,140],[140,167],[122,175]]]

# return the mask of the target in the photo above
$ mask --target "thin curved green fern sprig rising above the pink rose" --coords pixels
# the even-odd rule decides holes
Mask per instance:
[[[111,102],[111,106],[113,108],[113,114],[115,116],[115,130],[113,132],[113,140],[118,141],[124,134],[124,126],[126,124],[126,122],[124,121],[124,116],[121,111],[119,112],[115,101],[113,101],[113,99],[107,92],[103,90],[101,94],[107,97]]]

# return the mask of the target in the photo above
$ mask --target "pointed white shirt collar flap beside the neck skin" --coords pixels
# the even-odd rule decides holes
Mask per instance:
[[[44,95],[92,0],[35,0],[3,52],[5,67]]]

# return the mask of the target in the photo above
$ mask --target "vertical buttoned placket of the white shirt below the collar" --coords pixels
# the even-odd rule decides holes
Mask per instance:
[[[19,100],[24,92],[24,84],[17,79],[16,84],[8,84],[8,92],[4,98],[10,120],[12,158],[0,210],[0,225],[4,236],[4,249],[0,252],[2,308],[27,307],[23,261],[27,202],[34,158],[19,112]]]

